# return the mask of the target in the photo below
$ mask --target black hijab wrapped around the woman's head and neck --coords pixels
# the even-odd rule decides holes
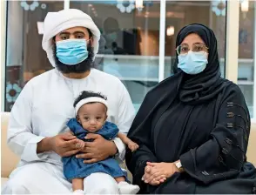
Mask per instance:
[[[219,56],[217,51],[217,40],[213,31],[202,24],[191,24],[179,31],[176,47],[179,46],[184,38],[189,34],[196,33],[203,39],[208,49],[208,64],[205,71],[195,76],[188,76],[185,73],[183,84],[180,86],[179,98],[187,104],[201,104],[215,97],[219,91],[219,85],[224,79],[220,77]],[[174,64],[174,72],[177,73],[178,57]]]

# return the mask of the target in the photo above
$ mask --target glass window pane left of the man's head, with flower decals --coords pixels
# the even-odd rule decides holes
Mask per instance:
[[[62,1],[8,1],[5,111],[32,77],[52,66],[42,49],[42,22],[47,12],[64,9]]]

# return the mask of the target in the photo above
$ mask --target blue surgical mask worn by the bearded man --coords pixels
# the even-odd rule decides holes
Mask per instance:
[[[85,39],[68,39],[56,43],[56,56],[60,62],[76,65],[88,57]]]

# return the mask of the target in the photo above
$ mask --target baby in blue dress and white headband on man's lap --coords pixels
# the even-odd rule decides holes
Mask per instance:
[[[84,141],[91,141],[84,138],[87,133],[97,133],[107,140],[120,138],[131,151],[138,149],[136,143],[118,132],[116,124],[106,121],[108,104],[100,93],[83,91],[76,99],[74,107],[77,118],[71,118],[67,125],[80,140],[77,144],[79,147],[84,148]],[[94,172],[104,172],[115,178],[120,194],[136,194],[139,191],[138,185],[126,182],[125,172],[114,158],[92,164],[84,164],[83,161],[82,158],[76,158],[76,155],[63,158],[64,176],[72,182],[74,193],[84,194],[84,178]]]

